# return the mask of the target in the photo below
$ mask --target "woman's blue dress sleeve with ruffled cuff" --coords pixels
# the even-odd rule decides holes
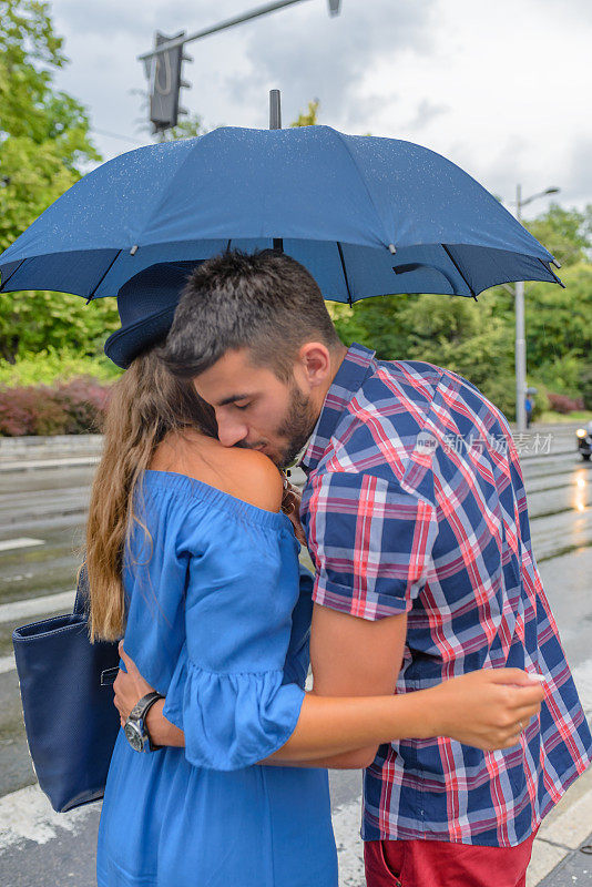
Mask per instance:
[[[184,731],[191,764],[234,771],[280,748],[299,717],[304,691],[284,682],[298,562],[287,529],[221,524],[201,546],[163,714]]]

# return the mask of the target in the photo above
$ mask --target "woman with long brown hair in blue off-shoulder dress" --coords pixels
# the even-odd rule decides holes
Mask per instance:
[[[131,361],[89,513],[91,632],[124,633],[135,701],[155,687],[176,730],[147,753],[119,735],[100,887],[336,887],[320,763],[409,735],[507,747],[539,711],[538,686],[501,685],[517,670],[407,696],[305,693],[309,589],[282,495],[273,463],[222,447],[210,409],[154,349]]]

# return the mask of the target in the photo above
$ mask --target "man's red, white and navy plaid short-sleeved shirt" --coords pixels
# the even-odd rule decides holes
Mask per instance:
[[[398,693],[481,667],[545,679],[519,746],[381,746],[365,772],[363,838],[519,844],[585,769],[592,737],[532,553],[507,420],[455,373],[353,345],[303,468],[314,599],[369,620],[408,613]]]

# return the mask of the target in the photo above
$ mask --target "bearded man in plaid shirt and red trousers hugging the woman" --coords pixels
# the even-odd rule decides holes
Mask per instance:
[[[273,252],[194,273],[165,360],[212,405],[224,445],[279,467],[297,458],[307,475],[315,693],[405,693],[483,666],[543,676],[519,747],[408,740],[343,762],[369,765],[369,887],[523,884],[533,835],[592,738],[504,417],[453,373],[346,348],[308,272]]]

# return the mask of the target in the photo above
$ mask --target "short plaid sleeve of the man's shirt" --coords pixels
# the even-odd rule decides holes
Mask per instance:
[[[438,532],[436,509],[423,497],[395,479],[319,473],[304,522],[316,603],[368,620],[411,609]]]

